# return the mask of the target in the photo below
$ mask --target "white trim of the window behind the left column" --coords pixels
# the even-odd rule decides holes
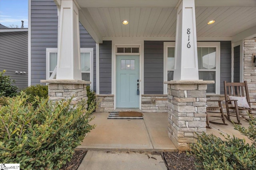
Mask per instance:
[[[50,53],[58,53],[58,48],[46,48],[46,80],[50,78],[49,72],[50,72]],[[90,53],[90,88],[93,90],[93,48],[80,48],[80,53]],[[88,71],[83,71],[88,72]]]

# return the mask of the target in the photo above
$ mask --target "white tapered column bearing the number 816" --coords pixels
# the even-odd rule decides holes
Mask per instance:
[[[182,0],[177,10],[174,80],[198,80],[194,0]]]

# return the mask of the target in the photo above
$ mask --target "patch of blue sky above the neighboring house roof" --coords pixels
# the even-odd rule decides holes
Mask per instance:
[[[28,0],[0,0],[0,23],[6,27],[18,25],[28,27]]]

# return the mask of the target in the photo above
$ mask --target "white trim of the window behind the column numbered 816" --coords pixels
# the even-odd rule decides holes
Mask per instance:
[[[175,42],[164,42],[164,81],[167,81],[167,77],[168,77],[168,70],[167,70],[168,47],[175,47]],[[215,94],[220,94],[220,42],[197,42],[197,47],[215,47],[216,48]],[[200,71],[204,71],[204,70],[200,70]],[[167,92],[168,92],[167,84],[164,84],[164,94],[167,94]]]

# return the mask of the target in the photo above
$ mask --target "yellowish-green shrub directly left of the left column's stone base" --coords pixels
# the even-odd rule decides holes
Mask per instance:
[[[30,95],[30,97],[28,98],[28,102],[33,102],[34,97],[36,96],[44,99],[48,98],[47,85],[36,84],[36,86],[29,86],[22,91],[25,92],[27,95]]]

